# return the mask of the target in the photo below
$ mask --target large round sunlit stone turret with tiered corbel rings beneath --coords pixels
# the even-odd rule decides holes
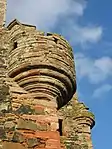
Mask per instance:
[[[68,42],[57,34],[36,31],[33,26],[15,24],[9,29],[9,76],[36,99],[56,100],[62,107],[76,91]]]

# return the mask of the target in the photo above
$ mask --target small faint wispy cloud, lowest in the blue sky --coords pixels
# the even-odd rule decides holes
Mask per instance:
[[[93,98],[101,98],[104,97],[106,93],[112,90],[112,85],[104,84],[103,86],[97,88],[93,93]]]

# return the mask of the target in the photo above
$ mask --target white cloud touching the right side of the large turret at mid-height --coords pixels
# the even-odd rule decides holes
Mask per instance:
[[[105,81],[112,77],[112,59],[110,57],[101,57],[93,60],[81,53],[75,55],[77,77],[79,79],[86,77],[93,84]]]

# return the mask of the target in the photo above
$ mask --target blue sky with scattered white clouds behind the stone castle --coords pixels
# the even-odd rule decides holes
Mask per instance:
[[[71,44],[79,100],[95,114],[94,149],[112,148],[112,0],[8,0],[6,24],[17,18]]]

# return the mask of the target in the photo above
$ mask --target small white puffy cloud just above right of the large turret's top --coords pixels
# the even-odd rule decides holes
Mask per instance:
[[[70,21],[70,24],[63,29],[63,34],[68,36],[72,45],[80,44],[85,47],[89,43],[97,43],[102,38],[103,28],[101,26],[80,26],[77,22]]]

